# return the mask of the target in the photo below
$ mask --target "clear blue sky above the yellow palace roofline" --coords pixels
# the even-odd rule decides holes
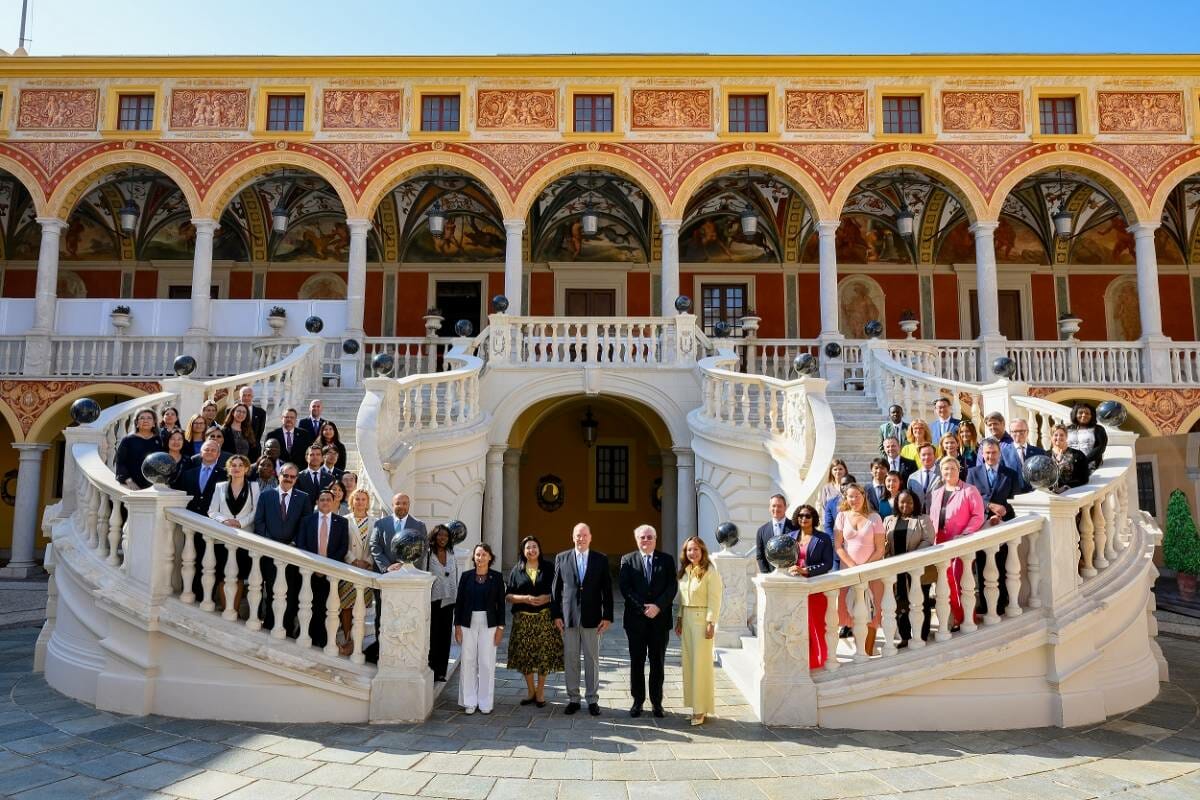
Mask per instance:
[[[1200,0],[30,0],[62,54],[1196,53]],[[20,0],[0,0],[0,47]]]

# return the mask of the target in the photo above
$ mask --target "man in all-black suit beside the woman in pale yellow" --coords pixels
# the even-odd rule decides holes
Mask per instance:
[[[637,549],[620,559],[617,579],[625,599],[625,638],[629,639],[629,693],[634,705],[629,716],[642,716],[646,704],[646,657],[650,658],[650,706],[662,717],[662,676],[671,638],[671,603],[679,581],[674,559],[655,548],[658,531],[638,525],[634,531]]]

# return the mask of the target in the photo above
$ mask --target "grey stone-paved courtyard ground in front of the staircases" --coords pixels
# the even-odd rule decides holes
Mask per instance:
[[[97,712],[30,674],[34,627],[0,630],[0,796],[370,800],[1200,798],[1200,642],[1164,637],[1171,682],[1106,724],[886,733],[767,729],[719,673],[719,718],[688,724],[671,654],[665,720],[628,716],[624,636],[604,639],[600,717],[521,706],[466,716],[451,679],[415,726],[233,724]],[[503,662],[502,662],[503,663]]]

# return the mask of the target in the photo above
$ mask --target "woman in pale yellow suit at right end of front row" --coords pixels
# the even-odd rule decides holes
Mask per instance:
[[[676,636],[683,639],[683,704],[691,708],[691,723],[703,724],[713,712],[713,637],[721,615],[721,576],[708,560],[698,536],[683,543],[679,555],[679,616]]]

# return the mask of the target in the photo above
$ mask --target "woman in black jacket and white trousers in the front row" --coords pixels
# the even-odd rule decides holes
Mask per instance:
[[[458,704],[467,714],[491,714],[496,694],[496,649],[504,638],[504,578],[492,569],[496,554],[475,545],[475,569],[458,579],[454,640],[458,651]]]

